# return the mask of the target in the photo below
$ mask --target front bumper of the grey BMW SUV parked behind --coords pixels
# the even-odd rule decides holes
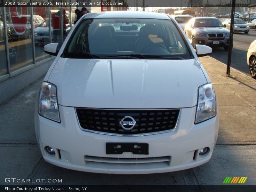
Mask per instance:
[[[225,38],[209,39],[208,37],[194,37],[196,44],[207,45],[210,47],[224,47],[229,45],[229,36]],[[219,44],[213,44],[213,41],[219,41]]]

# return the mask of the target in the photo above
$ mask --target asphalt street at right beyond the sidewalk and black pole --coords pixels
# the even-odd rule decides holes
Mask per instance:
[[[250,44],[256,39],[256,30],[250,29],[250,32],[248,34],[235,33],[233,35],[233,38],[234,45],[231,55],[231,67],[243,72],[247,76],[250,76],[246,56]],[[222,47],[212,48],[211,57],[221,61],[222,63],[227,64],[228,51],[224,51]]]

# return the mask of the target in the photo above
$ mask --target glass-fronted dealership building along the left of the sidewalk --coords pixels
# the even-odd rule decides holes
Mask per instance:
[[[117,6],[108,6],[109,0],[95,1],[102,3],[99,6],[93,6],[94,0],[60,0],[60,6],[49,6],[50,0],[31,1],[41,5],[13,5],[17,2],[0,1],[0,103],[48,71],[55,57],[44,52],[44,45],[63,43],[74,27],[77,8],[84,6],[90,12],[128,8],[126,0],[114,0]]]

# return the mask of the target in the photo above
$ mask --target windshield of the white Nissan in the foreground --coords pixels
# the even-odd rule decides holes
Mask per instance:
[[[171,20],[84,19],[71,36],[66,58],[191,59]]]

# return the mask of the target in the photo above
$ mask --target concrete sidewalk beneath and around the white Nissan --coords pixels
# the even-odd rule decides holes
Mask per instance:
[[[256,185],[256,81],[211,57],[200,58],[220,106],[220,130],[210,162],[171,173],[107,175],[67,170],[46,163],[36,143],[34,106],[43,77],[0,105],[0,185],[6,177],[62,179],[61,185],[222,185],[225,177],[248,177]],[[53,183],[34,183],[48,184]],[[195,191],[200,187],[195,187]]]

